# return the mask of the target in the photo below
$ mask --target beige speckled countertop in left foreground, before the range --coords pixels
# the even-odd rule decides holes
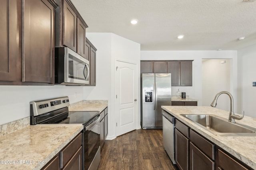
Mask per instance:
[[[4,135],[0,137],[0,170],[39,170],[82,129],[82,124],[41,124]]]

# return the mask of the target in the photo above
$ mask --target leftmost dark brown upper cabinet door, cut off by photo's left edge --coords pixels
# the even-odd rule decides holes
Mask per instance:
[[[0,81],[15,81],[19,36],[17,0],[2,0],[0,11]]]

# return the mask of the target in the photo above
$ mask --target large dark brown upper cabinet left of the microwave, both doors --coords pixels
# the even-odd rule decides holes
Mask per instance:
[[[54,84],[54,0],[4,0],[0,84]]]

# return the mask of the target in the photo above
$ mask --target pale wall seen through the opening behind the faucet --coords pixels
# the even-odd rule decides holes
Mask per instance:
[[[221,64],[221,61],[226,63]],[[231,62],[232,59],[206,59],[202,61],[202,106],[210,106],[218,92],[230,92]],[[216,108],[230,111],[230,98],[226,94],[220,95]]]

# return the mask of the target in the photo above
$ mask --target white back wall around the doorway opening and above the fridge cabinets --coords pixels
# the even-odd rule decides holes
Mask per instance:
[[[202,106],[202,59],[232,59],[232,77],[230,93],[234,97],[234,110],[237,107],[237,52],[236,51],[141,51],[141,60],[194,60],[192,65],[193,86],[172,87],[172,95],[176,95],[178,89],[186,92],[190,98],[198,100],[198,106]]]

